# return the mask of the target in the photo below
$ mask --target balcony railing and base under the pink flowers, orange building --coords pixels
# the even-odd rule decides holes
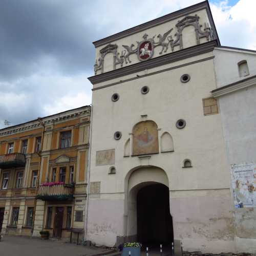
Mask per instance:
[[[36,198],[43,201],[70,201],[74,186],[63,182],[49,182],[39,185]]]

